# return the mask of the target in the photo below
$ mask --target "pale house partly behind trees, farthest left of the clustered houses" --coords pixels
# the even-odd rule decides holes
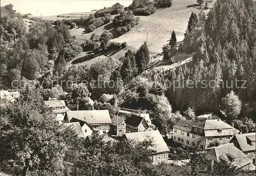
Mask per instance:
[[[70,111],[70,109],[66,106],[65,101],[51,99],[49,101],[45,101],[45,103],[52,109],[59,123],[63,123],[66,112]]]

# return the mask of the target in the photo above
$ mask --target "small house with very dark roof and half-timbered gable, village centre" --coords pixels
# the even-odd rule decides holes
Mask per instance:
[[[140,115],[133,114],[125,120],[126,133],[154,130],[155,126]]]

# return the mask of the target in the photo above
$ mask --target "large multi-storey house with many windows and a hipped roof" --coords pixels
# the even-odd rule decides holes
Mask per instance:
[[[229,143],[234,133],[238,134],[238,130],[220,119],[201,123],[181,119],[173,126],[173,141],[203,150]]]

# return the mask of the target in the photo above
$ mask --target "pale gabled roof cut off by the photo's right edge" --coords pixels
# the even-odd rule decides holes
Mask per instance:
[[[250,145],[246,139],[246,138],[248,139],[251,138],[255,140],[255,133],[234,135],[234,138],[237,138],[237,141],[242,151],[255,150],[255,145]]]

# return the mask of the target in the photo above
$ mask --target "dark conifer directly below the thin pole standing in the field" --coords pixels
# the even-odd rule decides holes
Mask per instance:
[[[148,63],[150,62],[150,52],[148,51],[146,42],[144,42],[137,51],[135,59],[138,65],[139,73],[145,71]]]

